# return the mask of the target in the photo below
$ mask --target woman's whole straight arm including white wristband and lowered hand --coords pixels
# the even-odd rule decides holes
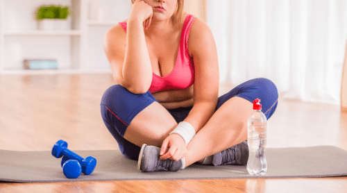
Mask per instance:
[[[184,121],[192,125],[197,133],[212,117],[217,106],[219,90],[216,44],[210,28],[200,19],[195,19],[192,24],[188,49],[194,59],[195,66],[194,105]],[[188,129],[189,132],[187,133],[190,134],[184,133],[190,136],[193,128],[180,128],[180,131]],[[186,136],[186,138],[188,139],[189,136]],[[183,139],[182,136],[176,133],[169,135],[162,143],[160,158],[180,160],[185,157],[187,142]]]

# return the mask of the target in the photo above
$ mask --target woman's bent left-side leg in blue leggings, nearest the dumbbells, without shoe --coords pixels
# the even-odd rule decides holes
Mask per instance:
[[[105,91],[101,115],[121,152],[133,160],[137,160],[142,144],[160,146],[177,125],[150,92],[133,94],[121,85]]]

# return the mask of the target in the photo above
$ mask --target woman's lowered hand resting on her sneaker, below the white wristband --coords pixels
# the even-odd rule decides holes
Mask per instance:
[[[187,154],[187,148],[185,140],[178,134],[169,135],[164,142],[162,142],[162,148],[160,150],[160,159],[166,160],[180,160]]]

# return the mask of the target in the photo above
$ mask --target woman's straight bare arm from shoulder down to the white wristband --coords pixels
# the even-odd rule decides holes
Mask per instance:
[[[188,49],[195,65],[194,106],[185,121],[197,133],[212,117],[219,91],[217,47],[210,28],[200,19],[192,24]]]

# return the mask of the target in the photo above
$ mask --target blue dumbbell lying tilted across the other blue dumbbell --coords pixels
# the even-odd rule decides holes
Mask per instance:
[[[52,155],[56,158],[61,158],[62,156],[65,156],[64,161],[62,160],[62,165],[64,165],[67,160],[77,160],[82,167],[83,174],[89,175],[92,174],[96,167],[96,159],[88,156],[87,158],[82,158],[81,156],[78,156],[73,151],[70,151],[67,149],[67,142],[64,140],[59,140],[54,144],[52,149]]]

